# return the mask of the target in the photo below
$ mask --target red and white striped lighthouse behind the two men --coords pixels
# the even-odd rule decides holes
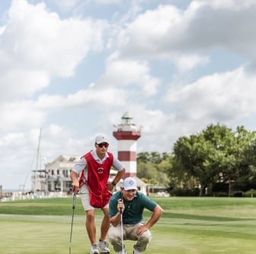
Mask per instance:
[[[135,177],[137,173],[136,151],[141,127],[138,128],[131,123],[131,119],[133,117],[125,113],[122,116],[122,123],[117,125],[117,130],[113,132],[114,137],[117,138],[118,159],[126,169],[123,179],[128,176]]]

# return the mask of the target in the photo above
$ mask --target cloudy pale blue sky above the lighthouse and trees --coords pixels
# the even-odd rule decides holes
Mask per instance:
[[[137,152],[171,153],[210,124],[256,125],[254,0],[5,0],[0,185],[82,155],[128,112]],[[38,159],[40,158],[40,159]]]

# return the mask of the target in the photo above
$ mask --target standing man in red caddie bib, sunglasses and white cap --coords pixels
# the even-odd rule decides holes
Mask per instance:
[[[85,154],[70,173],[72,187],[76,193],[79,193],[83,208],[85,209],[85,227],[89,240],[91,241],[90,254],[99,254],[100,252],[110,253],[106,241],[107,231],[110,227],[108,202],[114,186],[116,186],[125,173],[120,160],[117,160],[113,154],[107,152],[109,143],[106,135],[96,135],[95,150],[91,150]],[[117,175],[114,177],[112,183],[108,183],[111,167],[117,170]],[[101,208],[104,213],[101,222],[101,237],[98,243],[96,241],[96,226],[94,221],[95,208]]]

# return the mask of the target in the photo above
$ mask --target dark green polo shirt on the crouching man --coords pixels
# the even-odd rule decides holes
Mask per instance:
[[[121,198],[121,192],[116,192],[110,198],[109,213],[110,217],[117,214],[117,202]],[[131,202],[123,199],[125,209],[123,211],[123,224],[137,224],[143,221],[144,208],[153,211],[157,205],[154,201],[144,195],[142,192],[136,192],[135,197]]]

